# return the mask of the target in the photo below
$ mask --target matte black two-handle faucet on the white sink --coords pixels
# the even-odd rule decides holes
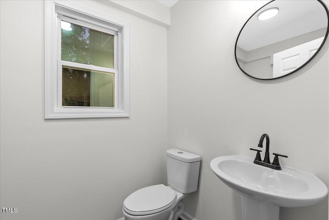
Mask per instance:
[[[268,136],[268,134],[263,134],[261,136],[261,139],[259,140],[258,146],[260,148],[263,148],[264,138],[266,138],[266,151],[265,151],[264,160],[262,161],[262,158],[261,158],[261,154],[260,154],[260,152],[262,152],[261,150],[250,148],[250,150],[257,151],[257,155],[256,155],[255,159],[253,160],[253,163],[259,164],[259,165],[264,166],[264,167],[272,168],[272,169],[275,169],[275,170],[281,170],[281,166],[280,166],[278,157],[279,156],[280,157],[288,157],[288,156],[273,153],[273,155],[275,155],[275,158],[273,159],[273,162],[271,163],[269,161],[269,136]]]

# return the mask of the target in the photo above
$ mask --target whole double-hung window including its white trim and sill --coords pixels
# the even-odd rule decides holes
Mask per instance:
[[[45,1],[45,118],[129,117],[129,25]]]

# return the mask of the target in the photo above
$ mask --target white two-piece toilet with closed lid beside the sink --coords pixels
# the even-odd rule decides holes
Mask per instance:
[[[168,185],[154,185],[130,194],[123,201],[125,220],[177,220],[183,198],[197,190],[201,157],[186,151],[167,151]]]

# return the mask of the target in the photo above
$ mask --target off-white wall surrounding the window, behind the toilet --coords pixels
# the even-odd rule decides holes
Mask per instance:
[[[167,29],[80,3],[130,22],[131,117],[44,120],[44,3],[0,1],[1,219],[118,219],[166,183]]]

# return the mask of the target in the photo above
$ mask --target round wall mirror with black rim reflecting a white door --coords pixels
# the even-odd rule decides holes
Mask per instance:
[[[278,79],[303,68],[323,46],[329,12],[318,1],[271,1],[242,27],[235,43],[240,69],[255,79]]]

